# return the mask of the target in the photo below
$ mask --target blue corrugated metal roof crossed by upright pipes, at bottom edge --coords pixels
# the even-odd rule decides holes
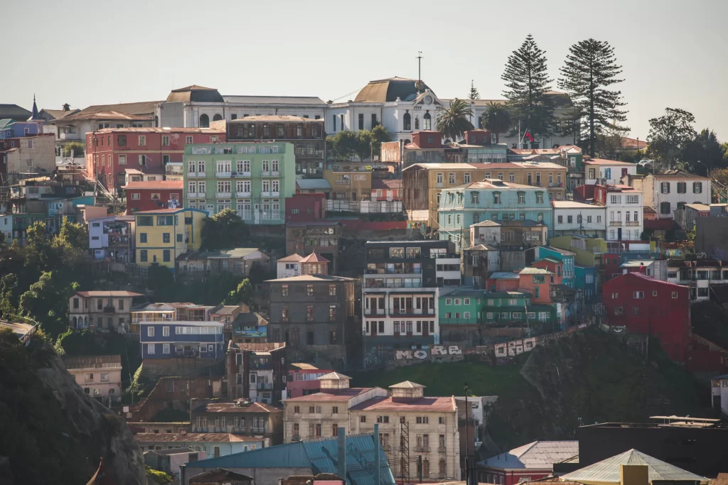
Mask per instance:
[[[374,485],[374,441],[373,435],[363,434],[346,437],[347,484]],[[336,438],[297,441],[296,443],[268,446],[249,452],[229,454],[226,457],[210,458],[186,463],[191,474],[194,468],[311,468],[313,474],[337,473],[338,443]],[[381,485],[395,483],[389,469],[384,450],[379,449],[379,476]]]

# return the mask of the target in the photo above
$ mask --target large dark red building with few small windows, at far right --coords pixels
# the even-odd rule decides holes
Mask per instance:
[[[673,361],[687,364],[691,342],[690,289],[642,273],[626,273],[602,286],[609,325],[653,335]]]

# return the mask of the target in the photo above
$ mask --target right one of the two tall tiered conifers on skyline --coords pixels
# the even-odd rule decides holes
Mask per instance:
[[[571,96],[575,115],[582,121],[581,139],[590,156],[596,151],[597,136],[606,129],[628,130],[617,126],[627,119],[627,111],[620,109],[626,105],[622,103],[622,92],[609,89],[623,81],[617,79],[621,73],[622,66],[614,58],[614,47],[607,41],[594,39],[571,46],[561,68],[558,87]]]

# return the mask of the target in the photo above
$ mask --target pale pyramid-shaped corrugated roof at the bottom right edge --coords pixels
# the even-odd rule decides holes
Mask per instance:
[[[630,449],[628,452],[617,454],[594,465],[566,473],[566,475],[561,476],[561,479],[582,483],[598,481],[618,484],[620,483],[620,465],[647,465],[649,481],[679,480],[700,481],[702,484],[708,483],[708,478],[704,476],[695,475],[695,473],[690,473],[675,465],[670,465],[670,463],[657,460],[657,458],[638,452],[636,449]]]

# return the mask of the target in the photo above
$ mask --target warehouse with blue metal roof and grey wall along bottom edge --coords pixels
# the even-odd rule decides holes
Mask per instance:
[[[376,431],[377,425],[374,426]],[[180,484],[188,484],[189,478],[200,473],[224,468],[253,476],[256,483],[261,484],[277,483],[281,477],[300,476],[303,473],[333,473],[343,475],[347,485],[376,485],[376,473],[379,472],[380,485],[394,485],[395,477],[384,450],[379,446],[379,439],[371,434],[344,436],[343,431],[341,429],[338,438],[296,441],[226,457],[187,462],[180,467]],[[379,454],[379,470],[376,470],[376,454]],[[345,469],[343,473],[340,467]]]

